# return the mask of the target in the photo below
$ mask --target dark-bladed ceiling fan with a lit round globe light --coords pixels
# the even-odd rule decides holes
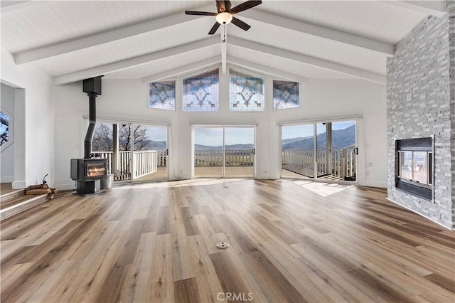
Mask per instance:
[[[245,11],[251,9],[259,4],[262,4],[262,1],[246,1],[242,4],[239,4],[232,9],[230,8],[230,1],[216,1],[216,8],[218,13],[211,13],[210,11],[185,11],[186,15],[199,15],[199,16],[216,16],[216,22],[213,27],[208,32],[209,35],[213,35],[221,24],[228,24],[232,21],[235,26],[242,28],[244,31],[248,31],[251,26],[247,23],[235,18],[233,14],[240,13],[240,11]]]

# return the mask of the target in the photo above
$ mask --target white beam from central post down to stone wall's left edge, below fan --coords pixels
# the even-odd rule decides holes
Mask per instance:
[[[268,55],[279,56],[287,58],[288,60],[294,60],[296,62],[313,65],[319,68],[325,68],[326,70],[333,70],[338,73],[351,75],[360,79],[368,80],[374,83],[380,83],[385,85],[385,75],[379,75],[377,73],[371,73],[367,70],[361,70],[359,68],[353,68],[348,65],[323,60],[309,55],[302,55],[300,53],[294,53],[289,50],[283,50],[280,48],[274,48],[272,46],[266,46],[251,41],[246,41],[236,37],[229,38],[230,46],[236,46],[238,48],[246,48],[249,50],[255,50],[260,53],[266,53]]]

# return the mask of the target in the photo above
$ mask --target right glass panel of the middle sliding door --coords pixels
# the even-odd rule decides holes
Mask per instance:
[[[254,127],[225,127],[224,150],[225,176],[254,176]]]

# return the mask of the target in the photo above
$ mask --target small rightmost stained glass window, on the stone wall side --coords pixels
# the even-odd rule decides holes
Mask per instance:
[[[299,106],[299,83],[273,80],[273,109],[282,110]]]

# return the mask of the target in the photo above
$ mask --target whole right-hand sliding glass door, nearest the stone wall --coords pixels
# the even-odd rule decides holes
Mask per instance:
[[[356,121],[282,125],[282,176],[355,181]]]

